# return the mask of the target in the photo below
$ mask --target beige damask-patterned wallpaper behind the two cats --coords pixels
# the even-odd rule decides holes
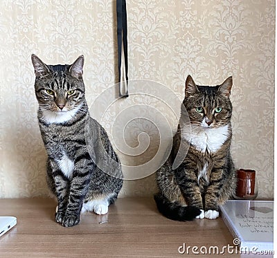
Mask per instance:
[[[236,167],[256,169],[259,197],[274,190],[274,0],[128,0],[131,95],[116,99],[115,1],[0,1],[0,197],[44,196],[46,154],[30,55],[70,64],[83,54],[91,115],[124,165],[120,196],[155,192],[188,74],[197,84],[233,75]]]

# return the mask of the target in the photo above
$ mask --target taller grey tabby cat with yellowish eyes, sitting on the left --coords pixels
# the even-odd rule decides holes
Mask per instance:
[[[71,65],[46,65],[32,55],[32,62],[39,129],[48,154],[46,178],[57,196],[55,221],[71,227],[79,223],[81,210],[108,212],[123,185],[121,165],[105,129],[89,116],[84,57]]]

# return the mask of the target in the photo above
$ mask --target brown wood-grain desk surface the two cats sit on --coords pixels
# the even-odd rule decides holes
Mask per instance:
[[[171,221],[159,214],[153,199],[118,199],[108,215],[87,212],[73,228],[55,223],[51,199],[0,199],[0,207],[0,216],[17,217],[15,228],[0,237],[1,258],[182,257],[178,248],[184,243],[199,248],[233,246],[221,218]],[[189,253],[183,256],[199,256]],[[224,256],[240,257],[226,252]]]

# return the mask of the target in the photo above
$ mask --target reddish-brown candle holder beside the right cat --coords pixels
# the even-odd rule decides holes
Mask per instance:
[[[237,187],[234,198],[237,200],[254,200],[258,195],[256,171],[252,169],[238,169]]]

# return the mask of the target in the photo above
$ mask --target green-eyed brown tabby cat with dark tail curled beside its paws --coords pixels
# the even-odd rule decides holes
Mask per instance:
[[[168,160],[157,172],[159,192],[154,196],[157,208],[169,219],[216,219],[218,205],[234,194],[232,84],[232,77],[217,86],[198,86],[190,75],[186,79],[177,133]],[[186,114],[190,126],[184,122]],[[188,153],[175,168],[181,145]]]

